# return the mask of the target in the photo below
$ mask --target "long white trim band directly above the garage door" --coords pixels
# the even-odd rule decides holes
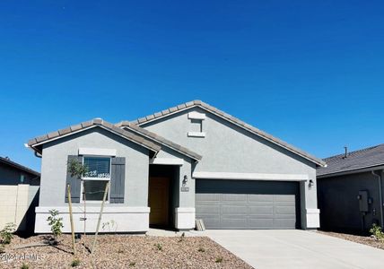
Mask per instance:
[[[231,173],[231,172],[194,172],[193,178],[206,179],[243,179],[243,180],[277,180],[305,181],[310,179],[306,174],[262,174],[262,173]]]

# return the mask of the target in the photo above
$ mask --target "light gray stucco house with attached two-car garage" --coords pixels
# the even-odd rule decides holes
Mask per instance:
[[[110,182],[103,222],[116,231],[150,225],[177,230],[316,229],[316,169],[325,163],[202,101],[112,125],[100,118],[32,139],[42,155],[36,232],[57,209],[69,231],[65,184],[83,229],[82,185],[67,161],[86,165],[87,231],[94,232]],[[87,191],[88,190],[88,191]],[[109,230],[104,230],[109,231]]]

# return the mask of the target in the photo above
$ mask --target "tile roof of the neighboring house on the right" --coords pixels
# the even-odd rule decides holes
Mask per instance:
[[[327,167],[319,168],[318,176],[384,165],[384,144],[349,152],[346,158],[345,154],[339,154],[328,157],[324,161],[327,162]]]

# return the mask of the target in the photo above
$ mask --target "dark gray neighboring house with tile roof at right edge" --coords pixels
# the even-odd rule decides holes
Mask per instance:
[[[318,169],[320,226],[366,231],[383,227],[384,144],[324,159]]]

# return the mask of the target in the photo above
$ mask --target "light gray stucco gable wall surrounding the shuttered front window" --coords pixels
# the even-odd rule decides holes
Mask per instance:
[[[67,156],[77,155],[80,147],[115,149],[117,157],[126,157],[124,205],[148,205],[149,151],[116,134],[95,127],[44,144],[41,161],[39,206],[65,205]],[[108,204],[108,206],[118,205],[120,204]],[[92,206],[92,204],[89,204],[89,206]]]

